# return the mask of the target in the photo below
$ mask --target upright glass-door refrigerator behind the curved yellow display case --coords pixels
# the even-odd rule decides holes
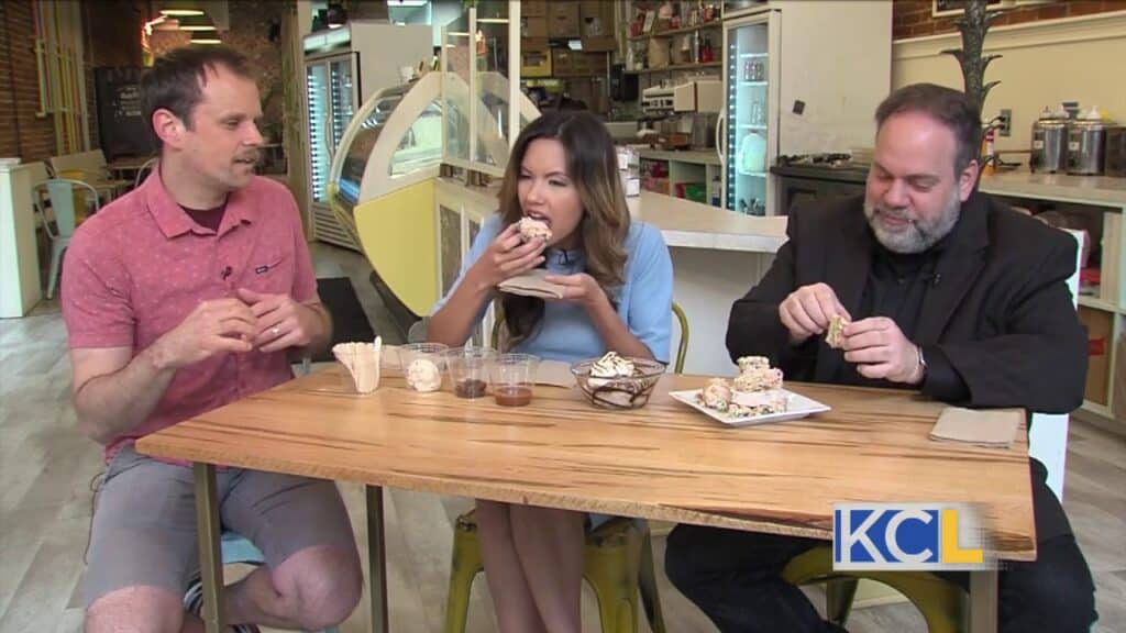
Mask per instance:
[[[375,50],[376,43],[381,48]],[[430,28],[354,21],[305,37],[309,200],[313,237],[359,250],[329,206],[328,180],[337,148],[360,102],[402,82],[401,69],[431,59]]]

